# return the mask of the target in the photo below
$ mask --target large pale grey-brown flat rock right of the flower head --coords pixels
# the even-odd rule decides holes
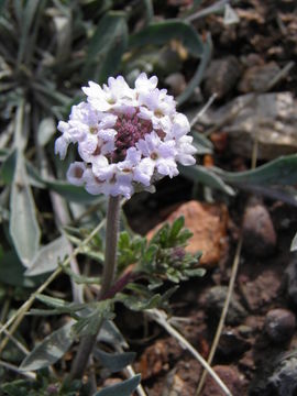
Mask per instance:
[[[255,140],[257,158],[274,160],[297,151],[297,99],[292,92],[248,94],[200,119],[206,127],[223,124],[228,147],[251,158]]]

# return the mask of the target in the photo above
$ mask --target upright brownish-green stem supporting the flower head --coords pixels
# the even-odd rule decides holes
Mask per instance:
[[[102,283],[98,300],[103,299],[107,292],[110,289],[117,267],[117,245],[120,223],[120,196],[110,197],[107,213],[107,233],[106,233],[106,254],[105,266],[102,273]],[[75,378],[81,378],[84,372],[88,365],[88,361],[92,349],[96,344],[97,336],[101,329],[103,319],[100,321],[97,332],[91,336],[85,336],[81,338],[78,346],[77,354],[73,362],[70,374],[67,382],[72,382]]]

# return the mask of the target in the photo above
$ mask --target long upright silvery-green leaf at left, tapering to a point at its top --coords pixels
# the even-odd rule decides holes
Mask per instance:
[[[30,266],[38,251],[41,231],[21,152],[18,153],[10,196],[10,234],[23,265]]]

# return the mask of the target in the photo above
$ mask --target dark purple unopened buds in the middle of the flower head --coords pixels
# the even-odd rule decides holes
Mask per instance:
[[[146,133],[151,133],[153,129],[152,122],[140,119],[138,113],[119,116],[113,128],[118,132],[112,156],[114,162],[122,161],[125,157],[127,150],[134,147],[138,141],[143,139]]]

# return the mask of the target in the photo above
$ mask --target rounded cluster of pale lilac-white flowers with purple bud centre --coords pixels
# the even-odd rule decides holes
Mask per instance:
[[[89,81],[87,101],[74,106],[55,152],[65,158],[69,143],[78,144],[81,162],[70,164],[69,183],[90,194],[122,195],[152,189],[164,176],[178,174],[177,162],[195,164],[196,148],[187,118],[176,111],[166,89],[155,76],[142,73],[130,88],[122,76],[110,77],[101,88]]]

